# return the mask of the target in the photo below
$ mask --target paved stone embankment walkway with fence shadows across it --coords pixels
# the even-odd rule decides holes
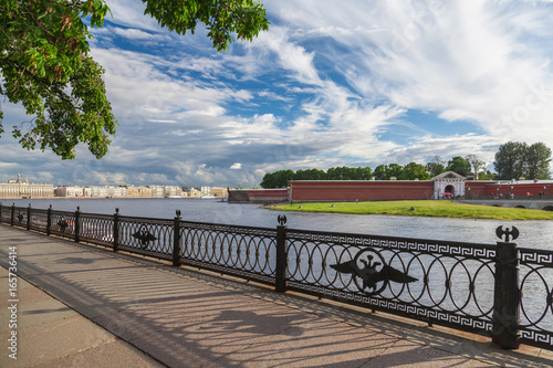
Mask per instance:
[[[536,347],[167,263],[0,224],[0,366],[553,366]]]

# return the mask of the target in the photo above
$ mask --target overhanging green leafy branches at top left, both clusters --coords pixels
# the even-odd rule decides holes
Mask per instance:
[[[253,0],[143,0],[161,27],[194,33],[206,24],[213,48],[227,50],[232,34],[251,41],[269,21]],[[97,158],[107,153],[117,122],[106,97],[104,70],[90,55],[90,27],[102,27],[106,0],[2,0],[0,94],[21,103],[32,119],[13,127],[28,149],[74,158],[79,143]],[[3,112],[0,107],[0,134]]]

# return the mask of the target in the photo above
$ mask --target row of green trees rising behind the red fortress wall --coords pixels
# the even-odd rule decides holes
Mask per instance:
[[[499,179],[549,179],[551,149],[543,143],[526,145],[510,141],[499,147],[493,166],[497,174],[486,170],[486,162],[476,155],[456,156],[445,161],[435,156],[426,165],[409,162],[378,165],[369,167],[332,167],[326,171],[320,169],[279,170],[268,172],[261,180],[263,188],[282,188],[291,180],[428,180],[446,171],[455,171],[463,177],[474,174],[478,180]]]

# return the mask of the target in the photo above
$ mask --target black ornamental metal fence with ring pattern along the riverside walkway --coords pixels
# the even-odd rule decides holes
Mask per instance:
[[[553,251],[6,207],[0,222],[553,349]]]

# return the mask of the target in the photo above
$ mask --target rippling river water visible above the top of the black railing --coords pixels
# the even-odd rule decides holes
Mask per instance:
[[[175,211],[189,221],[273,228],[276,217],[285,214],[291,229],[354,232],[376,235],[407,236],[495,243],[495,228],[515,225],[521,235],[519,246],[553,250],[553,221],[497,221],[395,215],[358,215],[334,213],[280,212],[258,204],[229,204],[213,199],[32,199],[1,200],[4,206],[171,219]],[[328,204],[330,206],[330,204]]]

